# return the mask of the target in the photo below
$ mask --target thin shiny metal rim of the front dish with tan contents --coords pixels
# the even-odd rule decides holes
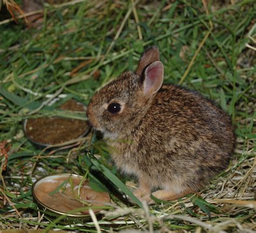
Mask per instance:
[[[47,209],[47,210],[50,210],[52,213],[55,213],[55,214],[58,214],[58,215],[66,215],[66,217],[71,217],[71,218],[78,218],[78,219],[84,219],[84,218],[91,218],[91,215],[90,214],[67,214],[67,213],[64,213],[62,211],[59,211],[59,210],[55,210],[55,209],[52,209],[51,207],[49,207],[48,205],[45,205],[43,202],[41,202],[36,194],[35,194],[35,187],[36,185],[44,180],[45,178],[47,177],[51,177],[51,176],[73,176],[73,177],[79,177],[81,179],[83,179],[84,177],[82,175],[77,175],[77,174],[71,174],[71,173],[52,173],[52,174],[48,174],[48,175],[44,175],[44,176],[41,176],[39,179],[37,179],[33,185],[32,185],[32,196],[33,198],[35,198],[36,202],[39,203],[43,208]],[[87,179],[86,179],[87,180]],[[96,212],[95,215],[98,215],[99,212]]]

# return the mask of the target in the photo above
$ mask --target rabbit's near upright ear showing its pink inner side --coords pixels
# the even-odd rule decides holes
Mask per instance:
[[[161,61],[154,61],[152,64],[146,67],[144,73],[144,93],[145,94],[154,94],[156,93],[161,85],[163,84],[164,79],[164,65]]]

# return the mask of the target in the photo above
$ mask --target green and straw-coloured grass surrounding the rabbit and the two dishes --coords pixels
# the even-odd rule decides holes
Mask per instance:
[[[46,5],[39,29],[26,29],[22,18],[18,24],[10,19],[0,22],[0,228],[256,230],[256,9],[250,0],[223,2],[209,1],[204,8],[205,1],[76,0]],[[78,140],[76,148],[49,152],[31,145],[22,122],[42,115],[86,120],[83,114],[59,112],[43,103],[64,94],[64,100],[87,104],[105,83],[135,70],[149,45],[159,47],[165,83],[197,90],[231,115],[237,146],[228,169],[200,193],[147,207],[124,198],[123,193],[132,196],[136,180],[119,174],[104,142],[94,134]],[[93,188],[109,190],[113,208],[87,223],[66,222],[38,208],[32,183],[56,172],[88,174]]]

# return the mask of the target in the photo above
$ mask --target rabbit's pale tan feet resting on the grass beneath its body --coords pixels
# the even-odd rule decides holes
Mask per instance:
[[[163,201],[172,201],[172,200],[177,200],[178,198],[184,197],[186,194],[190,193],[189,191],[183,191],[182,193],[174,193],[173,191],[167,191],[167,190],[157,190],[152,193],[152,195],[159,200]],[[146,195],[141,198],[141,201],[147,202],[147,204],[155,204],[151,197],[150,194]]]

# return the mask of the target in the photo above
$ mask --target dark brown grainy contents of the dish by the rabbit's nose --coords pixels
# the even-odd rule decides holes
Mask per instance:
[[[72,99],[66,101],[60,109],[85,112],[83,104]],[[26,122],[26,133],[29,138],[44,145],[77,139],[88,128],[87,121],[60,117],[29,119]]]

